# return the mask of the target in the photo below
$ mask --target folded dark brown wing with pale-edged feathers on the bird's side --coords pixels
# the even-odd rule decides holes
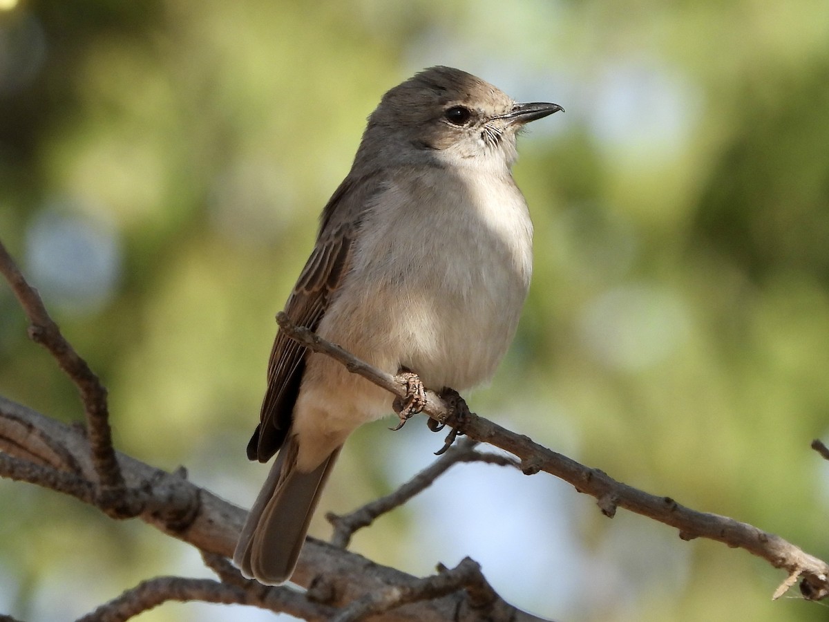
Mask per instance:
[[[347,177],[322,211],[317,244],[288,298],[285,313],[294,323],[316,330],[351,265],[351,247],[369,199],[379,189],[377,176]],[[267,462],[284,443],[293,420],[293,404],[308,348],[282,331],[276,333],[268,363],[268,389],[262,402],[248,458]]]

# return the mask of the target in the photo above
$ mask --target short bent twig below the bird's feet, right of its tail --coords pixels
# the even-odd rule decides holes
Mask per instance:
[[[420,471],[412,479],[400,486],[400,488],[397,488],[393,493],[387,494],[385,497],[377,498],[371,501],[371,503],[366,503],[366,505],[357,508],[354,512],[342,516],[335,513],[327,513],[325,518],[334,527],[331,543],[335,547],[346,548],[355,532],[363,527],[369,527],[382,514],[399,508],[408,502],[410,498],[429,488],[429,486],[434,484],[434,480],[448,471],[453,464],[461,462],[484,462],[501,466],[517,467],[519,465],[518,461],[510,456],[484,454],[476,451],[475,445],[478,445],[478,442],[475,440],[463,440],[463,442],[453,446],[445,454],[441,455],[439,459],[435,460],[434,463],[429,464],[428,467]]]

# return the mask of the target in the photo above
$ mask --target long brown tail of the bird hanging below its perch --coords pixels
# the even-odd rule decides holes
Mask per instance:
[[[297,441],[289,436],[259,491],[233,561],[242,574],[276,586],[291,578],[322,487],[341,447],[310,473],[296,469]]]

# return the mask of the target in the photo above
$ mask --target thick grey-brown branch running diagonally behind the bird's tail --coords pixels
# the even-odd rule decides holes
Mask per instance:
[[[38,433],[32,434],[32,430]],[[85,480],[90,486],[95,479],[95,468],[89,453],[89,441],[82,430],[72,425],[41,415],[32,409],[0,396],[0,449],[16,459],[0,460],[0,475],[11,474],[18,468],[17,461],[32,464],[48,464],[48,469],[70,474]],[[167,535],[188,542],[202,552],[210,553],[207,559],[211,568],[219,572],[224,583],[237,588],[250,585],[250,590],[262,589],[255,581],[247,581],[230,571],[230,565],[220,565],[218,557],[230,557],[247,512],[206,488],[199,488],[184,479],[182,473],[170,474],[133,459],[126,454],[116,457],[124,474],[129,491],[138,491],[143,499],[138,518],[158,528]],[[5,469],[4,470],[4,465]],[[42,467],[46,468],[46,467]],[[48,485],[49,478],[32,478],[33,483]],[[27,479],[29,481],[29,479]],[[83,494],[69,487],[62,492],[83,500]],[[230,574],[225,574],[230,573]],[[230,581],[236,576],[236,581]],[[308,538],[299,557],[292,581],[300,586],[313,587],[325,577],[328,589],[323,602],[332,608],[341,608],[367,594],[384,590],[407,590],[417,585],[418,578],[381,566],[356,553],[332,547],[325,542]],[[151,586],[154,584],[150,584]],[[244,587],[241,589],[245,589]],[[284,588],[281,588],[284,589]],[[384,615],[388,622],[423,622],[423,620],[459,620],[459,622],[484,622],[485,610],[474,610],[469,604],[466,591],[455,591],[436,600],[404,605]],[[512,622],[543,622],[541,618],[517,610],[499,599]],[[156,603],[157,605],[158,603]],[[155,606],[155,605],[153,605]],[[455,618],[458,610],[468,611],[463,618]],[[505,620],[507,618],[505,617]]]

